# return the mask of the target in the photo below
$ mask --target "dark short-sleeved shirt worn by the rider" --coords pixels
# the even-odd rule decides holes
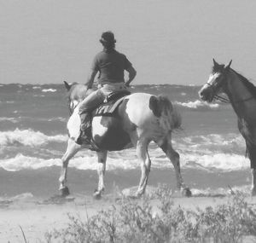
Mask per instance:
[[[124,71],[130,67],[131,62],[115,49],[102,50],[92,63],[92,70],[100,72],[99,84],[125,82]]]

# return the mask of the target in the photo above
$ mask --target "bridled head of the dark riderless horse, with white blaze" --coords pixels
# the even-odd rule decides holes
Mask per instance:
[[[213,59],[212,73],[207,83],[202,86],[198,93],[203,101],[212,102],[214,97],[223,91],[231,63],[232,60],[227,65],[218,64],[218,62]]]

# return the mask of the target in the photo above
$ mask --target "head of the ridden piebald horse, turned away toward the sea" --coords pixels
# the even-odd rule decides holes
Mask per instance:
[[[68,84],[64,81],[65,88],[67,90],[67,103],[69,112],[72,114],[73,110],[79,102],[83,101],[84,98],[90,94],[91,90],[87,88],[84,84]]]

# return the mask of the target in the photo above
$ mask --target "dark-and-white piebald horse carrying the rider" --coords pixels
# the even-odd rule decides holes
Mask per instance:
[[[79,136],[80,118],[79,102],[93,90],[88,90],[84,84],[67,84],[68,106],[71,116],[67,122],[68,142],[67,151],[61,158],[60,191],[67,196],[67,165],[75,153],[86,145],[76,143]],[[117,151],[134,146],[137,159],[141,164],[141,179],[136,196],[145,192],[151,160],[148,155],[149,142],[155,142],[172,161],[176,176],[177,188],[184,194],[190,195],[189,188],[183,183],[180,171],[179,154],[172,148],[172,131],[181,126],[181,117],[172,102],[164,96],[154,96],[146,93],[134,93],[125,96],[116,110],[116,116],[96,116],[92,119],[92,138],[100,152],[98,160],[98,186],[94,196],[100,198],[104,191],[104,174],[108,151]]]

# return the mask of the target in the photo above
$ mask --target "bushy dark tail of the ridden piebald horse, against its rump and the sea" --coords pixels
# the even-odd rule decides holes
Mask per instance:
[[[177,107],[165,95],[151,96],[149,107],[160,119],[160,126],[164,130],[181,130],[182,117]]]

